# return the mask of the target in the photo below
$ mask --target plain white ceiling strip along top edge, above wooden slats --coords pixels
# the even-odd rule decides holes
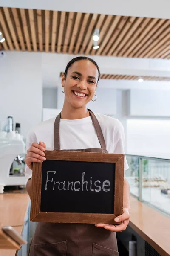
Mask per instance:
[[[0,0],[0,6],[170,19],[169,0]]]

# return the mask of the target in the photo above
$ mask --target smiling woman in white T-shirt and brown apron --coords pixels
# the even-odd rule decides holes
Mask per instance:
[[[27,191],[31,196],[32,162],[45,160],[43,151],[73,150],[124,154],[124,131],[117,119],[93,113],[86,108],[95,100],[100,72],[96,62],[87,57],[72,59],[62,75],[65,93],[62,112],[41,122],[27,138],[25,162]],[[128,169],[125,158],[125,169]],[[30,256],[116,256],[116,233],[125,230],[129,222],[129,186],[124,182],[123,214],[108,224],[62,224],[39,222],[30,247]]]

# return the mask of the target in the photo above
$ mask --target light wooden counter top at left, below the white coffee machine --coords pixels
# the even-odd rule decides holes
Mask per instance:
[[[20,235],[26,219],[30,198],[24,193],[0,194],[0,222],[13,226]],[[0,256],[15,256],[15,249],[0,249]]]

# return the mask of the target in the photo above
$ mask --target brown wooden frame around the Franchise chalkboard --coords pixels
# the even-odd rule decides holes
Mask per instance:
[[[33,163],[31,213],[30,221],[57,222],[57,223],[116,223],[114,218],[123,212],[123,186],[124,186],[124,154],[92,153],[78,151],[45,151],[46,160],[113,163],[114,197],[113,214],[105,213],[79,213],[79,212],[48,212],[41,211],[42,189],[42,163]]]

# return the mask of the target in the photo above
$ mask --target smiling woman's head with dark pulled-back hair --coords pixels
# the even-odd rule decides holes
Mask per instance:
[[[62,114],[68,106],[71,108],[85,106],[96,92],[99,77],[99,67],[91,58],[77,57],[71,60],[62,75],[62,87],[65,92]]]

